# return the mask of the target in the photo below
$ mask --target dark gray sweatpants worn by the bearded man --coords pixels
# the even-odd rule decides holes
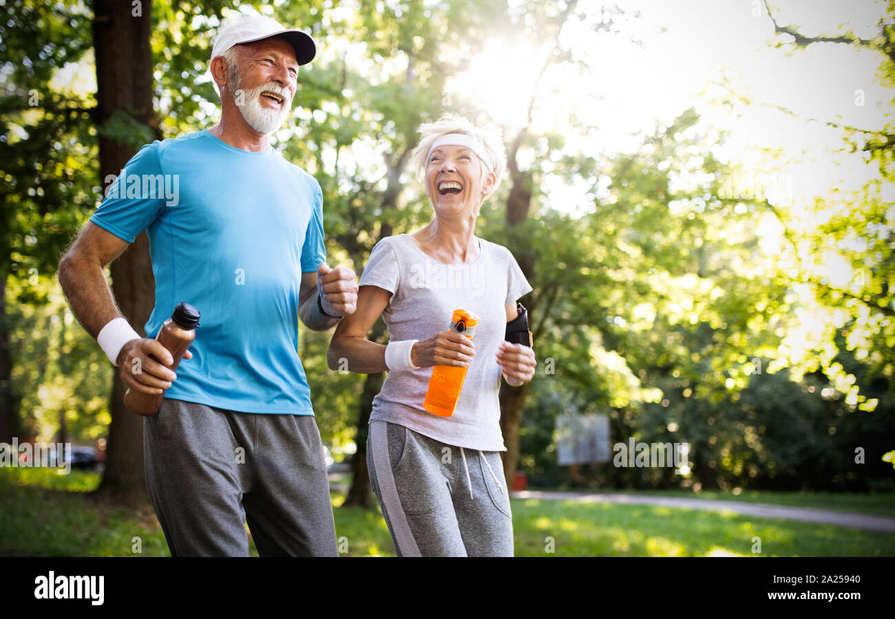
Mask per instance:
[[[165,399],[143,420],[146,486],[173,556],[337,556],[320,432],[307,415]]]

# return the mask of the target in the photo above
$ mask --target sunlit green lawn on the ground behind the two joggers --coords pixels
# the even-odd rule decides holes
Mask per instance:
[[[110,505],[90,495],[98,482],[98,474],[90,472],[61,476],[46,469],[0,469],[0,555],[168,555],[152,509]],[[728,498],[703,496],[711,494]],[[760,494],[763,502],[771,502],[768,493]],[[793,502],[778,504],[805,505],[805,497],[790,498]],[[848,495],[821,498],[824,506],[855,505]],[[394,555],[378,507],[342,507],[340,492],[332,499],[343,554]],[[729,512],[514,499],[513,513],[517,556],[754,556],[755,537],[761,538],[762,556],[895,556],[895,536],[888,533]],[[133,552],[134,538],[139,538],[140,553]],[[253,546],[252,554],[257,555]]]

